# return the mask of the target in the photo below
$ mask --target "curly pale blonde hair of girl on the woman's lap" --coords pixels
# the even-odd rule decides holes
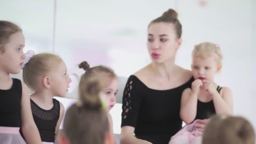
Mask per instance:
[[[222,53],[219,45],[211,42],[203,42],[198,45],[195,45],[194,50],[192,51],[192,57],[202,57],[203,59],[214,56],[217,64],[222,66]]]

